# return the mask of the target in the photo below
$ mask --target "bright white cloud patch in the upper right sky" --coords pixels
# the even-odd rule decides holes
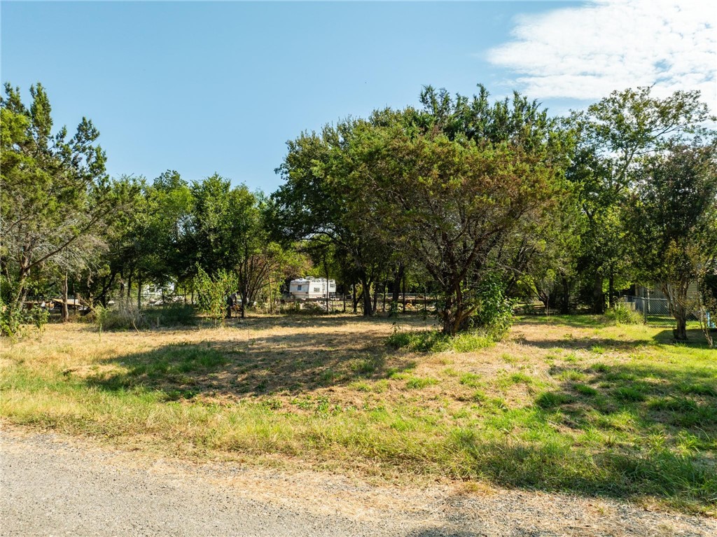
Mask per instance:
[[[708,1],[593,1],[518,16],[513,40],[488,52],[536,98],[597,100],[655,85],[701,90],[717,113],[717,8]]]

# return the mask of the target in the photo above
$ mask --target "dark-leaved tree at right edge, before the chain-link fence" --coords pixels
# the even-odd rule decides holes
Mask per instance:
[[[635,176],[628,229],[642,280],[660,286],[687,339],[688,287],[717,262],[717,146],[678,145]]]

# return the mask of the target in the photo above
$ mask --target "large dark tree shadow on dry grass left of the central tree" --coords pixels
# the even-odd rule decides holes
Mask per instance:
[[[305,330],[357,322],[353,318],[292,318],[278,322],[276,318],[253,318],[246,325],[262,329],[285,322],[295,327],[296,333],[250,338],[249,331],[237,331],[236,338],[224,341],[173,343],[120,355],[105,362],[116,369],[100,371],[85,382],[108,390],[163,391],[168,399],[199,394],[241,398],[300,394],[361,379],[384,379],[415,366],[412,361],[386,352],[385,334],[381,331],[364,328],[357,336]]]

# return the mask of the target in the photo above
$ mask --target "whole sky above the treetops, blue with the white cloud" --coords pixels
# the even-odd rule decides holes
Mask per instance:
[[[274,191],[285,142],[416,105],[423,85],[565,113],[611,90],[717,103],[717,10],[657,2],[2,1],[1,77],[99,128],[113,176],[214,172]]]

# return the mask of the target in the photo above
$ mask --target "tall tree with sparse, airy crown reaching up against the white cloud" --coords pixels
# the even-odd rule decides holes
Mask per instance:
[[[610,301],[615,281],[629,278],[622,223],[627,191],[645,158],[700,133],[708,109],[700,92],[667,98],[652,88],[614,91],[571,118],[577,146],[568,176],[576,184],[585,219],[579,267],[592,287],[592,310],[602,313],[604,282]]]

